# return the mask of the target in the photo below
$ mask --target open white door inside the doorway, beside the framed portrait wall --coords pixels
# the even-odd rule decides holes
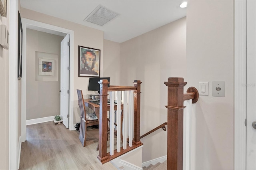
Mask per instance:
[[[69,34],[60,43],[60,115],[63,124],[69,124]]]

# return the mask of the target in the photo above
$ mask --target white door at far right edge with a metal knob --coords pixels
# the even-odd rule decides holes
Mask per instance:
[[[256,1],[247,0],[246,169],[256,169]]]

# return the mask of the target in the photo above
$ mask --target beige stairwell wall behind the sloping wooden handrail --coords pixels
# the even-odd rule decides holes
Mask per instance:
[[[121,43],[121,85],[142,81],[140,135],[167,121],[164,81],[185,76],[186,18]],[[141,141],[142,162],[167,154],[166,131],[157,130]]]

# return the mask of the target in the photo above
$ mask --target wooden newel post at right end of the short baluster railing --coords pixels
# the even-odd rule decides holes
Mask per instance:
[[[134,143],[140,144],[140,80],[134,80],[134,87],[137,90],[134,91]]]

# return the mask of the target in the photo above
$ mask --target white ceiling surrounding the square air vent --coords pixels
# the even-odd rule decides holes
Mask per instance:
[[[122,43],[186,16],[186,8],[179,7],[182,2],[184,0],[20,0],[20,5],[102,30],[104,39]],[[104,26],[84,22],[98,5],[120,15]]]

